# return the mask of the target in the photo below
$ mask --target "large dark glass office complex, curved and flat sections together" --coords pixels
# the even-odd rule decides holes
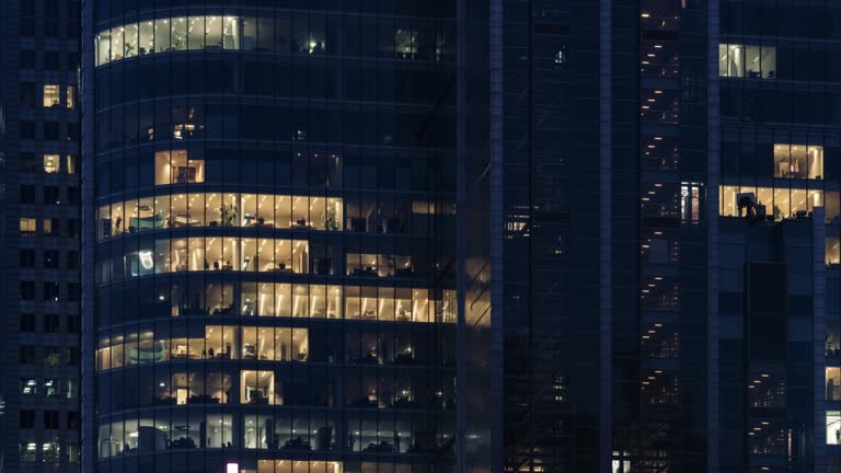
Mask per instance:
[[[841,4],[83,13],[85,472],[841,473]]]

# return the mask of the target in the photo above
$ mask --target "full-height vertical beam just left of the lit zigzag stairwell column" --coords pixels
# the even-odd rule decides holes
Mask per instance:
[[[601,473],[611,472],[613,411],[613,139],[612,0],[599,0],[599,459]]]

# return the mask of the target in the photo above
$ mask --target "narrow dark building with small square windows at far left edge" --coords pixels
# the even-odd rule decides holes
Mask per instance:
[[[0,5],[0,472],[80,465],[80,7]]]

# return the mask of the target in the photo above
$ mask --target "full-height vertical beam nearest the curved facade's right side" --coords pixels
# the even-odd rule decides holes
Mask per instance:
[[[503,199],[503,131],[504,131],[504,82],[503,82],[503,3],[491,0],[489,23],[489,77],[491,77],[491,471],[505,471],[505,414],[503,413],[503,243],[505,210]]]

